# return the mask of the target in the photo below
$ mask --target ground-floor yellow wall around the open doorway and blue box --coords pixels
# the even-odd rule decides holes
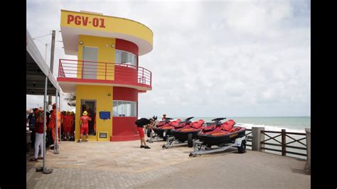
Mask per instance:
[[[108,94],[111,94],[108,96]],[[75,141],[80,139],[80,116],[81,100],[96,100],[96,136],[89,136],[90,141],[109,141],[112,136],[112,116],[111,119],[100,119],[101,111],[109,111],[112,114],[112,87],[95,85],[76,85],[76,114],[75,114]],[[108,133],[107,139],[99,139],[100,131]],[[85,140],[85,136],[82,137]]]

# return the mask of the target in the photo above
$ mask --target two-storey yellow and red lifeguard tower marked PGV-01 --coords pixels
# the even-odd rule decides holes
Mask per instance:
[[[138,57],[152,50],[152,31],[127,18],[65,10],[60,28],[65,54],[77,55],[59,60],[57,78],[63,92],[76,95],[75,140],[84,110],[92,117],[89,140],[139,139],[138,94],[152,89],[152,75]]]

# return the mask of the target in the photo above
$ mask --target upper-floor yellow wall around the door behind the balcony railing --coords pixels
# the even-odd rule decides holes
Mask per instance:
[[[80,44],[80,41],[83,44]],[[114,54],[115,48],[112,48],[112,45],[116,45],[115,38],[103,38],[97,36],[78,36],[78,53],[77,53],[77,60],[83,60],[83,47],[96,47],[98,48],[98,57],[97,62],[97,80],[114,80],[114,65],[113,64],[105,64],[105,63],[114,63]],[[105,69],[107,66],[107,74],[105,74]],[[78,62],[77,66],[77,78],[81,78],[82,72],[82,62]],[[106,77],[105,77],[106,75]]]

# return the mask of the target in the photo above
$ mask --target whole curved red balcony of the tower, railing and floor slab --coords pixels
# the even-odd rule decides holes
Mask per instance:
[[[75,92],[75,85],[131,87],[146,92],[152,89],[152,73],[128,64],[60,59],[58,82],[63,92]]]

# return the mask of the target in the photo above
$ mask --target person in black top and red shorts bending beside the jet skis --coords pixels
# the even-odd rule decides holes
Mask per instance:
[[[166,120],[166,114],[163,114],[163,117],[161,118],[161,120]],[[147,146],[146,144],[144,130],[148,129],[152,131],[152,129],[156,128],[156,124],[158,124],[158,121],[155,120],[154,118],[150,118],[150,119],[141,118],[141,119],[137,119],[137,121],[135,121],[134,124],[137,125],[137,131],[140,136],[140,142],[141,142],[140,148],[150,149],[150,147]]]

